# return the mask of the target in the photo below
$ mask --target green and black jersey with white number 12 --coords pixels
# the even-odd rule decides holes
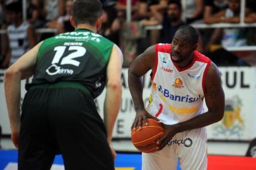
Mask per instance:
[[[38,50],[30,85],[79,82],[96,98],[105,86],[112,48],[113,42],[86,29],[48,38]]]

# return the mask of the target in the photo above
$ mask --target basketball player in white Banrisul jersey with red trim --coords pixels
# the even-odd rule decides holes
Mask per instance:
[[[207,125],[224,113],[224,92],[216,65],[195,51],[199,35],[184,25],[172,44],[156,44],[139,55],[129,68],[129,88],[136,109],[132,128],[159,120],[165,135],[156,152],[143,153],[143,170],[207,169]],[[152,71],[149,105],[144,108],[140,77]],[[206,100],[208,111],[203,110]],[[206,113],[204,113],[206,112]]]

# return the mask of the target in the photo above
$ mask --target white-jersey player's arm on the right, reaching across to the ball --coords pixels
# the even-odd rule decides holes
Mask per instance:
[[[161,142],[161,145],[158,150],[163,149],[176,133],[192,130],[194,128],[206,127],[212,123],[219,122],[219,120],[223,118],[224,91],[221,86],[221,76],[218,68],[213,62],[211,62],[206,74],[205,88],[204,97],[206,99],[208,111],[182,123],[163,125],[166,133],[159,141]]]

